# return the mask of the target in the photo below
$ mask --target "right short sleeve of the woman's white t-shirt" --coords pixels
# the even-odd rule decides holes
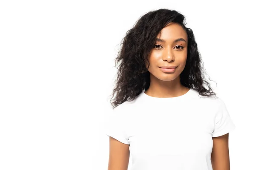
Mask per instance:
[[[220,98],[217,100],[219,105],[218,111],[215,115],[215,126],[212,132],[212,137],[222,136],[224,134],[230,133],[236,128],[223,100]]]

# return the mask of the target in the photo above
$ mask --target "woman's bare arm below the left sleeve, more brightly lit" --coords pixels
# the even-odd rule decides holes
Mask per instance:
[[[130,158],[129,144],[109,137],[108,170],[127,170]]]

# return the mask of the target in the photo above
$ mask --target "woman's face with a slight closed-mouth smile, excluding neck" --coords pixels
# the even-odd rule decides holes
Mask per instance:
[[[149,55],[150,77],[162,81],[179,79],[187,59],[187,34],[177,23],[169,23],[157,35],[157,42]],[[163,67],[175,66],[175,69]]]

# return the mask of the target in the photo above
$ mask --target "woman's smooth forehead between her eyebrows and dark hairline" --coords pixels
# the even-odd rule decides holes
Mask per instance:
[[[173,40],[176,38],[183,38],[187,40],[186,31],[177,23],[169,23],[165,28],[163,28],[157,35],[157,38],[164,40]]]

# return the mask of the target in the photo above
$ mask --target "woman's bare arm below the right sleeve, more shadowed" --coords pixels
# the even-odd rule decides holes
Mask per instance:
[[[213,170],[230,170],[228,135],[227,133],[212,138],[213,147],[211,161]]]

